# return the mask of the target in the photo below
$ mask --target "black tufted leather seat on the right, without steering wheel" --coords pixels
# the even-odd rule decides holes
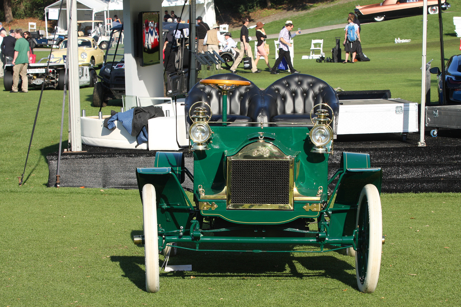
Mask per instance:
[[[273,126],[291,126],[291,122],[310,122],[309,112],[320,103],[328,104],[334,115],[338,115],[337,94],[328,83],[312,75],[292,74],[266,88],[263,108],[266,120],[272,122]],[[321,108],[317,106],[315,110]],[[323,108],[328,110],[325,106]],[[312,127],[312,124],[300,125]]]

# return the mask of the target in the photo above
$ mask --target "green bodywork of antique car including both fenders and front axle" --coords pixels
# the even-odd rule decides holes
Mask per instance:
[[[160,248],[172,242],[195,242],[197,250],[201,242],[317,243],[321,250],[329,243],[341,248],[355,248],[355,220],[361,189],[369,183],[376,185],[378,191],[381,189],[382,171],[380,168],[370,168],[369,155],[343,153],[342,168],[329,180],[329,155],[311,152],[313,144],[306,127],[230,125],[212,126],[211,129],[213,133],[207,141],[208,150],[194,151],[193,193],[197,201],[194,205],[189,203],[180,184],[184,178],[182,155],[158,152],[154,168],[137,168],[140,191],[143,185],[151,183],[157,193],[159,236],[164,242]],[[245,146],[255,142],[269,143],[294,160],[294,187],[298,193],[297,198],[304,197],[304,200],[295,199],[293,209],[226,209],[227,157],[238,154]],[[331,184],[335,187],[331,195],[328,195],[328,185]],[[213,204],[215,207],[208,208],[208,205],[206,209],[200,210],[200,203]],[[309,206],[314,208],[314,204],[322,208],[315,211],[309,209]],[[244,231],[251,230],[251,227],[251,231],[258,227],[278,228],[287,236],[219,237],[222,232],[199,229],[199,216],[219,217],[232,225],[240,225],[239,229]],[[284,226],[285,223],[300,218],[318,218],[318,231],[284,229],[290,227]],[[231,228],[235,229],[236,226]],[[219,231],[230,230],[223,228]],[[207,235],[208,232],[213,232],[214,236]],[[298,236],[290,236],[290,233],[297,233]],[[159,242],[162,244],[162,240]]]

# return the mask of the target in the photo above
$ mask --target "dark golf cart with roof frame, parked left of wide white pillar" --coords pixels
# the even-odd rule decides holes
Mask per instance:
[[[125,94],[124,45],[120,44],[123,24],[112,27],[104,63],[99,71],[100,82],[93,89],[93,105],[105,107],[109,99],[121,99]]]

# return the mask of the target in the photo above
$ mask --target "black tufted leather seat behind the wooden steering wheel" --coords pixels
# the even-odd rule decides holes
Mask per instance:
[[[239,75],[235,74],[219,74],[213,75],[206,79],[219,79],[219,80],[240,80],[249,81]],[[251,81],[250,81],[251,82]],[[251,82],[248,87],[237,87],[227,93],[227,121],[232,122],[233,126],[251,126],[249,122],[255,122],[260,108],[260,101],[262,100],[260,89]],[[198,101],[203,101],[211,106],[213,116],[210,120],[212,122],[222,120],[222,93],[221,91],[197,82],[194,87],[189,91],[188,97],[185,102],[186,115],[192,104]],[[196,104],[199,106],[199,104]],[[192,112],[191,112],[192,114]],[[191,124],[189,116],[187,116],[188,124]]]

